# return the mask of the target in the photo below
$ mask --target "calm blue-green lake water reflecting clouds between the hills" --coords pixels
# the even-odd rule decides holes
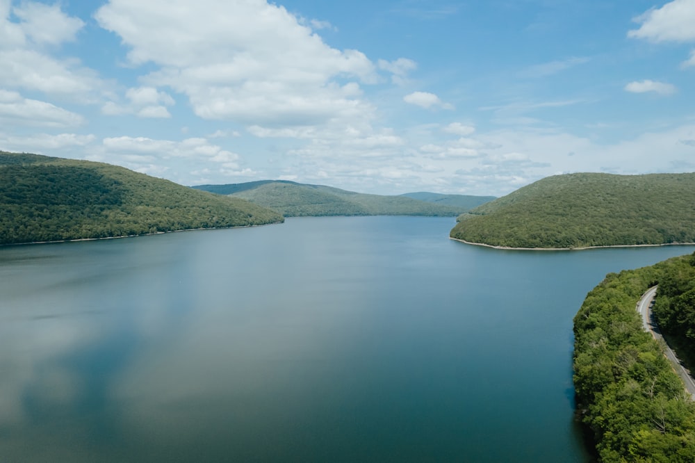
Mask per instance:
[[[453,225],[0,247],[0,460],[586,462],[575,312],[695,248],[500,251]]]

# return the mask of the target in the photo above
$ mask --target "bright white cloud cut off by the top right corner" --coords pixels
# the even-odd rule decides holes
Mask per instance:
[[[651,42],[689,42],[695,40],[695,1],[673,0],[661,8],[648,10],[636,17],[639,29],[628,32],[628,37]]]

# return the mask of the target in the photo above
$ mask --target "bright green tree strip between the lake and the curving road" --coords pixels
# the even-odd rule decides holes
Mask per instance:
[[[635,308],[694,259],[611,273],[574,318],[577,409],[603,462],[695,461],[695,404]]]

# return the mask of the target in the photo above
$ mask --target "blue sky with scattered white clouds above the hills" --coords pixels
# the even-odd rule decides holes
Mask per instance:
[[[695,0],[0,0],[0,149],[501,196],[695,171]]]

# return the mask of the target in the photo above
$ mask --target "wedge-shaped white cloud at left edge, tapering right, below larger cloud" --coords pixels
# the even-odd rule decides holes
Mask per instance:
[[[5,126],[38,127],[74,127],[85,122],[79,114],[7,90],[0,90],[0,120]]]

